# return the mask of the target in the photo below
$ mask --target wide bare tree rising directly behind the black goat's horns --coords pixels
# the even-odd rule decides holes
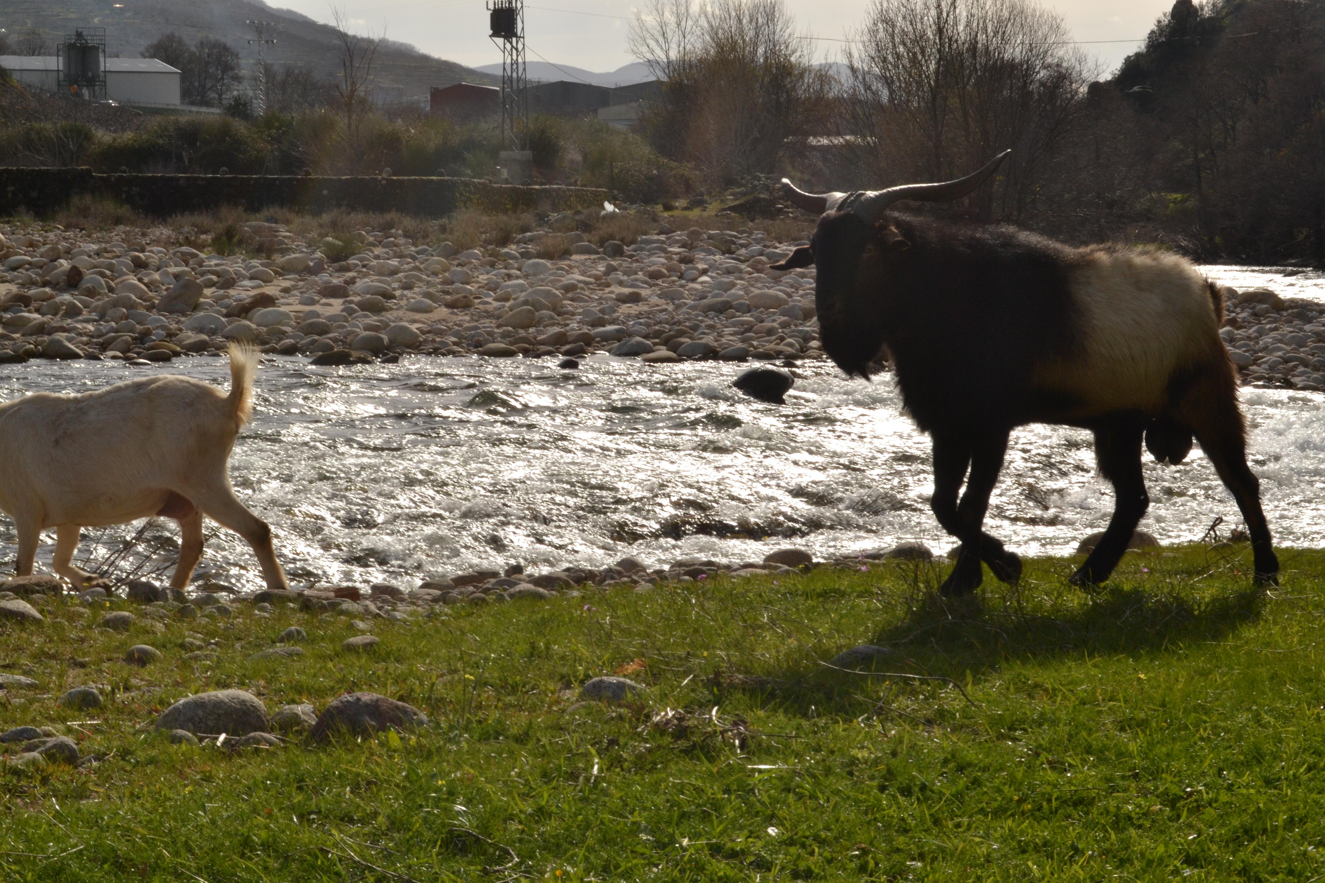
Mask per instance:
[[[847,49],[859,167],[873,184],[947,180],[1011,147],[980,208],[1019,218],[1094,73],[1069,38],[1027,0],[873,0]]]

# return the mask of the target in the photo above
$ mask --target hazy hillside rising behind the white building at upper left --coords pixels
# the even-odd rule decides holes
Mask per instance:
[[[268,46],[268,60],[277,65],[303,65],[326,77],[339,73],[335,37],[331,28],[290,9],[277,9],[261,0],[131,0],[111,8],[105,0],[4,0],[0,28],[11,37],[30,28],[52,44],[74,28],[105,28],[110,54],[136,57],[147,44],[175,30],[189,41],[217,37],[240,50],[245,65],[256,52],[246,42],[253,36],[244,21],[258,19],[277,24],[277,44]],[[388,38],[392,36],[387,34]],[[466,81],[489,83],[500,79],[486,73],[427,56],[413,46],[387,40],[378,50],[375,65],[379,94],[387,98],[427,95],[432,86]]]

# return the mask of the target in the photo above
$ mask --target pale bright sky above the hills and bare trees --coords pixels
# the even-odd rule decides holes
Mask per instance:
[[[786,0],[799,26],[816,37],[825,61],[840,58],[840,40],[857,26],[864,0]],[[331,20],[327,0],[268,0],[273,7],[294,9],[318,21]],[[337,0],[350,21],[363,32],[382,32],[423,52],[462,65],[501,62],[501,53],[488,40],[488,12],[482,0]],[[1100,60],[1104,73],[1136,50],[1155,19],[1173,0],[1056,0],[1057,11],[1081,41],[1081,48]],[[533,0],[525,5],[525,45],[529,60],[568,64],[594,71],[611,71],[635,58],[627,34],[635,15],[620,0]]]

